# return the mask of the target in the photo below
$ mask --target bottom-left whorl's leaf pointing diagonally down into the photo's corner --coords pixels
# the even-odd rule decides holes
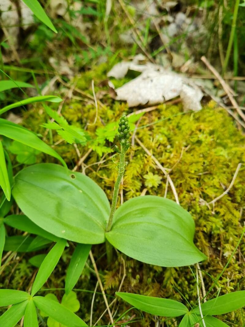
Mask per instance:
[[[14,327],[24,316],[28,300],[12,305],[1,317],[1,327]]]

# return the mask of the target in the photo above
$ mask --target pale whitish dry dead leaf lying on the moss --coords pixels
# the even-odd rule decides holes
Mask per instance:
[[[200,87],[184,75],[153,63],[141,63],[142,55],[131,61],[116,64],[107,74],[116,79],[126,76],[128,71],[141,74],[117,88],[116,100],[127,101],[129,107],[139,105],[156,105],[180,96],[184,110],[199,111],[202,109],[203,92]]]

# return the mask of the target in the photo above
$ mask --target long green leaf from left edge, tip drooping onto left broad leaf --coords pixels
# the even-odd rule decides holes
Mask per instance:
[[[4,135],[12,140],[16,140],[41,152],[47,153],[50,156],[57,158],[64,166],[66,166],[64,160],[55,150],[40,140],[35,133],[24,127],[0,118],[0,135]]]

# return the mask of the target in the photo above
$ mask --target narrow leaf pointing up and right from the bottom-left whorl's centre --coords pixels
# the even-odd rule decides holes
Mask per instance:
[[[41,267],[37,273],[35,281],[32,286],[31,296],[34,296],[46,282],[55,269],[61,254],[63,253],[66,246],[66,240],[60,239],[56,245],[50,250],[45,259],[43,260]]]

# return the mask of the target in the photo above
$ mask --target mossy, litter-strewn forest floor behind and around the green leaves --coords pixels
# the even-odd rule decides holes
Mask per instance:
[[[209,5],[198,6],[197,2],[118,0],[112,1],[111,7],[107,1],[106,9],[104,1],[89,1],[75,2],[81,5],[77,9],[74,2],[50,1],[46,10],[58,33],[36,21],[18,25],[20,17],[16,17],[16,26],[3,25],[0,68],[2,79],[9,76],[34,86],[24,89],[25,95],[53,94],[64,100],[50,108],[72,128],[82,129],[83,142],[74,143],[62,124],[61,132],[45,129],[42,124],[52,118],[41,103],[7,112],[4,118],[38,133],[70,169],[96,181],[109,201],[118,173],[115,123],[122,114],[135,113],[120,202],[157,195],[188,210],[196,225],[194,243],[208,257],[200,267],[204,289],[211,290],[212,298],[245,287],[245,74],[243,53],[237,47],[244,14],[239,12],[236,39],[226,65],[224,49],[233,5],[203,1]],[[7,35],[11,33],[17,33],[16,40],[9,44]],[[145,74],[147,82],[140,74]],[[153,86],[148,83],[151,78]],[[159,90],[164,80],[164,91]],[[123,89],[132,81],[134,84]],[[18,89],[0,93],[3,105],[23,96]],[[15,172],[25,164],[57,162],[3,141]],[[16,210],[11,208],[12,213]],[[8,229],[9,236],[22,234]],[[61,301],[73,247],[71,243],[64,251],[43,295],[53,293]],[[27,290],[37,273],[29,260],[45,251],[4,251],[0,287]],[[119,287],[123,292],[190,305],[197,301],[193,267],[147,265],[117,250],[108,264],[104,244],[93,246],[92,251],[109,303]],[[106,306],[97,286],[88,259],[75,287],[80,301],[77,314],[89,325],[92,302],[92,322],[102,326],[109,317],[106,312],[100,318]],[[181,320],[146,313],[142,317],[139,310],[127,311],[129,308],[123,301],[112,306],[116,318],[123,314],[120,325],[178,326]],[[242,309],[218,318],[228,326],[244,326]],[[40,321],[46,326],[46,318],[40,317]]]

